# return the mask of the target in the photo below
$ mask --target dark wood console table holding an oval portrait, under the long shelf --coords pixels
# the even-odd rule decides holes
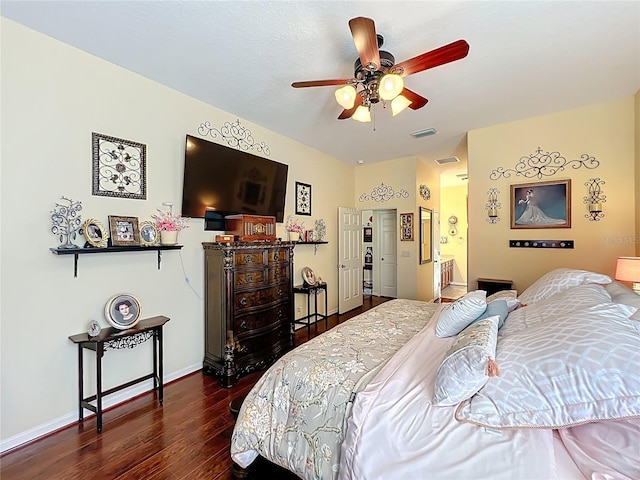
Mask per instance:
[[[79,333],[69,337],[78,345],[78,421],[84,419],[84,409],[96,414],[97,431],[102,432],[102,399],[105,395],[118,392],[145,380],[153,379],[153,389],[158,390],[158,400],[162,404],[162,327],[169,321],[168,317],[157,316],[140,320],[133,328],[118,330],[114,327],[102,329],[99,335],[90,337],[88,333]],[[102,357],[108,349],[121,350],[135,348],[138,345],[153,338],[153,373],[131,380],[117,387],[102,391]],[[96,352],[96,394],[90,397],[84,396],[84,368],[83,349]],[[96,404],[91,402],[95,400]]]

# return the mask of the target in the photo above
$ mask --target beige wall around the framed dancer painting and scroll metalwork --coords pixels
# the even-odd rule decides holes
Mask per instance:
[[[637,205],[634,192],[634,99],[628,97],[469,132],[469,282],[478,277],[512,279],[522,291],[556,267],[571,267],[613,275],[616,258],[636,249]],[[491,180],[498,167],[513,168],[522,157],[543,151],[560,152],[567,160],[588,154],[600,166],[594,170],[567,168],[552,177],[512,176]],[[606,182],[605,218],[585,218],[585,182]],[[510,185],[571,179],[570,229],[510,229]],[[485,222],[489,188],[500,191],[500,221]],[[509,239],[574,240],[573,250],[509,248]]]

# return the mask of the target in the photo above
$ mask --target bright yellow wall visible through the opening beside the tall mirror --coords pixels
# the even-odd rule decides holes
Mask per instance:
[[[440,216],[440,236],[447,238],[447,243],[440,244],[440,253],[444,257],[453,257],[453,283],[467,284],[467,186],[442,188],[442,215]],[[449,234],[449,217],[458,217],[456,235]],[[475,288],[471,286],[470,288]]]

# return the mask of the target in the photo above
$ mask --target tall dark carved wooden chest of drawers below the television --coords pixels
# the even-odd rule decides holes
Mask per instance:
[[[230,388],[292,349],[293,247],[290,242],[203,243],[203,371]]]

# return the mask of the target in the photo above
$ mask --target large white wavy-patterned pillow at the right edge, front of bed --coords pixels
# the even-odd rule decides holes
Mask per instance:
[[[609,302],[501,336],[502,375],[461,403],[456,419],[491,428],[560,428],[640,416],[637,323]]]

